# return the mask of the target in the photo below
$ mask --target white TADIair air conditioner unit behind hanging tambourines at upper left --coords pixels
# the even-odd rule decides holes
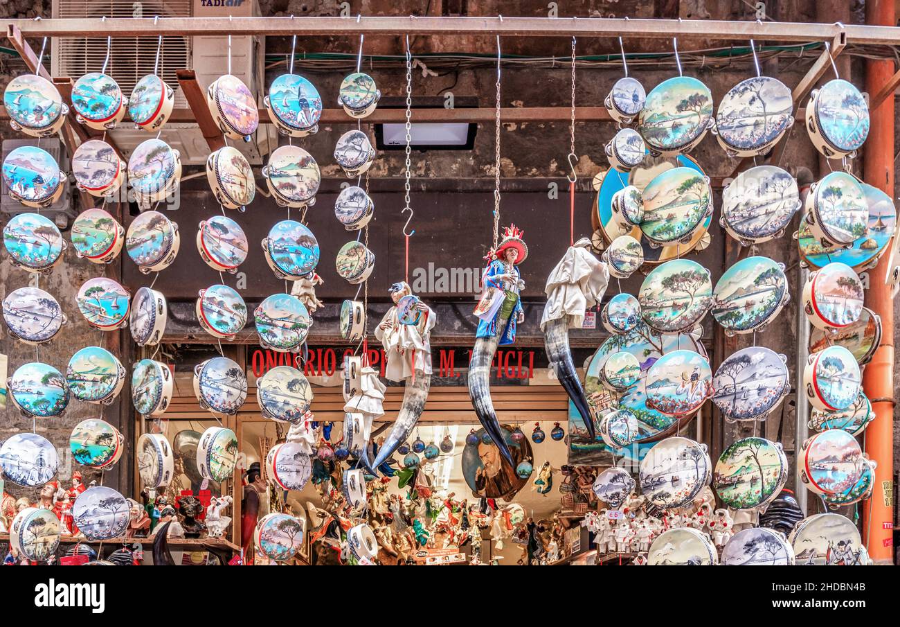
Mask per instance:
[[[202,0],[52,0],[55,18],[97,20],[97,37],[60,37],[52,44],[51,73],[77,80],[88,72],[99,72],[106,59],[103,15],[118,17],[251,17],[259,15],[258,0],[243,0],[229,6],[204,6]],[[130,95],[140,77],[153,72],[157,58],[157,36],[113,37],[106,73],[115,78],[122,92]],[[182,37],[165,35],[159,55],[158,74],[175,89],[175,108],[187,108],[175,70],[193,69],[202,89],[228,72],[228,37]],[[244,81],[262,103],[265,89],[265,41],[259,37],[231,38],[231,73]],[[134,128],[126,117],[110,136],[126,158],[131,150],[151,135]],[[161,139],[181,153],[185,165],[200,165],[210,149],[195,123],[166,123]],[[263,155],[278,145],[271,124],[260,124],[253,141],[233,142],[249,159],[261,164]]]

